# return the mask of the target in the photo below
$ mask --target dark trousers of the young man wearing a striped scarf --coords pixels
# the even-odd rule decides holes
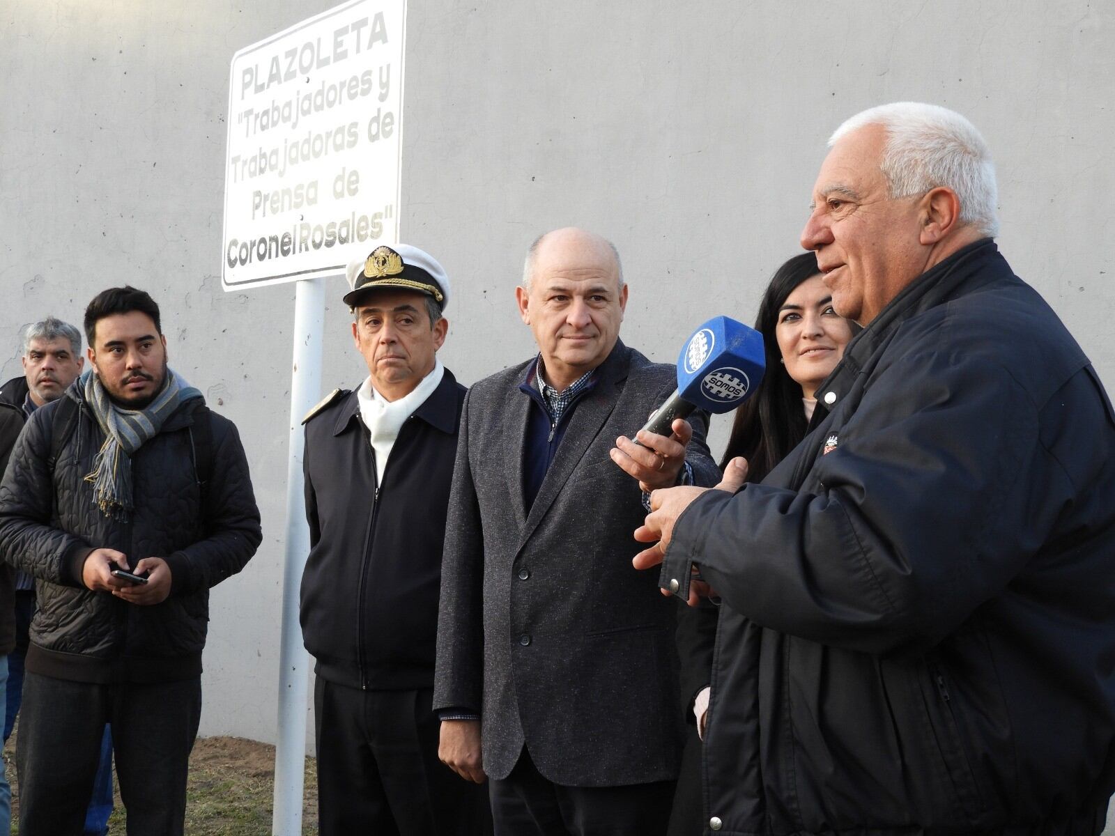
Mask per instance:
[[[182,836],[201,711],[200,677],[107,686],[27,673],[16,745],[21,836],[81,833],[105,723],[128,836]]]

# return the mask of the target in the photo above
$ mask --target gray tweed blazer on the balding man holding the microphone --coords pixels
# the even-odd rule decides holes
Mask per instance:
[[[465,398],[442,566],[434,708],[479,712],[484,769],[507,777],[525,745],[547,779],[581,787],[678,775],[675,614],[637,572],[646,512],[608,451],[675,388],[672,366],[617,342],[582,397],[530,513],[523,448],[533,359]],[[695,414],[695,483],[719,470]]]

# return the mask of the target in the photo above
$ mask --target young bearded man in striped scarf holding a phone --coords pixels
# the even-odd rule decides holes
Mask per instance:
[[[0,555],[39,592],[20,833],[80,833],[110,722],[128,834],[182,834],[209,589],[260,516],[236,428],[166,364],[155,301],[106,290],[85,331],[91,370],[30,416],[0,484]]]

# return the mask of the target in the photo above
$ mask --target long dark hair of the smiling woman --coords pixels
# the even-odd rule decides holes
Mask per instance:
[[[720,461],[723,469],[736,456],[746,458],[748,482],[766,477],[805,438],[807,424],[802,409],[802,386],[780,362],[775,328],[778,310],[786,298],[798,284],[820,272],[815,253],[795,255],[775,271],[759,303],[755,330],[763,334],[766,373],[755,395],[736,410],[728,448]]]

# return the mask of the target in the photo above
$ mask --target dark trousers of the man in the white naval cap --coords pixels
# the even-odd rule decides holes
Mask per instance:
[[[321,836],[491,834],[484,787],[437,759],[433,689],[361,691],[318,677]]]

